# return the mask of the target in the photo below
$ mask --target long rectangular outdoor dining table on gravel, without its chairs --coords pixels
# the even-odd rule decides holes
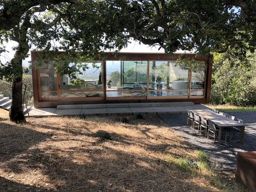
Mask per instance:
[[[227,128],[239,127],[241,129],[240,143],[244,143],[244,131],[245,131],[244,124],[231,120],[230,118],[225,117],[219,113],[215,113],[209,109],[199,109],[199,110],[191,110],[191,111],[193,113],[199,114],[199,116],[202,116],[207,120],[214,122],[218,126],[219,128],[218,143],[221,143],[221,129],[223,127],[227,127]]]

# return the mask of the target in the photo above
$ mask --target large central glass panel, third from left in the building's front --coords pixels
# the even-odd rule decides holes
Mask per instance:
[[[106,97],[146,97],[147,61],[106,61]]]

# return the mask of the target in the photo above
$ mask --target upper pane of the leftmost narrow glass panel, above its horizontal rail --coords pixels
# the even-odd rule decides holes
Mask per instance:
[[[41,91],[57,91],[57,74],[52,61],[40,67],[40,84]]]

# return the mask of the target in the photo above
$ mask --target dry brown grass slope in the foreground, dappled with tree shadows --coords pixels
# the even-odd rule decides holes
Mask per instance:
[[[204,161],[189,165],[204,155],[157,116],[144,117],[27,118],[22,125],[1,119],[0,191],[231,190],[234,174],[218,175]]]

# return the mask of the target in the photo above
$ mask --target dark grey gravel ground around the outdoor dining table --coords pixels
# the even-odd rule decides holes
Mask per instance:
[[[244,144],[240,142],[217,144],[213,139],[204,138],[196,129],[187,126],[187,114],[159,114],[158,116],[177,130],[193,147],[206,151],[220,169],[233,170],[236,168],[237,152],[256,151],[256,112],[230,112],[229,114],[244,120]]]

